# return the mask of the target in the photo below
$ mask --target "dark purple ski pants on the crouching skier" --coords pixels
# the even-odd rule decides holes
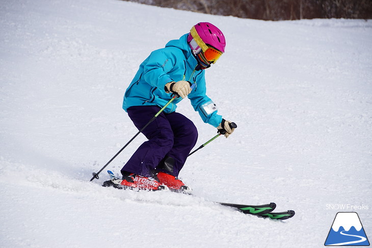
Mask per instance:
[[[160,107],[157,106],[132,106],[127,109],[129,118],[138,130],[158,111]],[[177,177],[198,139],[194,123],[176,112],[161,113],[142,133],[148,141],[137,149],[121,171],[147,177],[163,171]]]

